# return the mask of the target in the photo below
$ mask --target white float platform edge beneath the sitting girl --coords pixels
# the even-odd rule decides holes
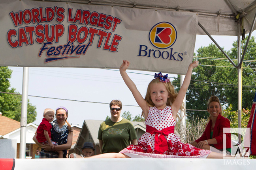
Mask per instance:
[[[253,170],[256,159],[0,159],[0,170]]]

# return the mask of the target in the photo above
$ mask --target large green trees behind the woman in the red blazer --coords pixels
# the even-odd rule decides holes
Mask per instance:
[[[246,39],[247,40],[247,37]],[[235,59],[237,64],[237,42],[233,43],[231,51],[226,52],[230,58]],[[242,46],[244,48],[244,45]],[[242,108],[250,108],[256,90],[255,74],[253,69],[255,63],[252,61],[256,56],[256,43],[254,37],[249,41],[245,62],[243,65],[243,91]],[[214,45],[201,47],[197,50],[196,60],[200,66],[194,68],[190,86],[186,93],[186,108],[195,110],[206,110],[208,99],[215,95],[220,99],[222,105],[233,105],[233,110],[237,110],[237,69],[226,59],[224,54]],[[255,59],[254,59],[255,60]],[[246,69],[247,68],[247,69]],[[173,81],[173,85],[180,87],[180,76]],[[207,117],[205,111],[186,111],[187,115]],[[189,117],[189,118],[191,118]]]

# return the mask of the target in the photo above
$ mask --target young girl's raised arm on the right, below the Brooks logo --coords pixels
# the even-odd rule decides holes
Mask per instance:
[[[188,66],[188,71],[186,72],[186,76],[184,78],[183,84],[181,86],[181,89],[178,92],[178,95],[175,99],[175,101],[171,104],[171,110],[173,117],[176,119],[177,113],[181,107],[181,104],[183,102],[183,99],[186,95],[186,91],[188,89],[188,86],[190,84],[190,79],[192,75],[193,68],[198,67],[198,61],[194,61],[193,63],[190,63]]]

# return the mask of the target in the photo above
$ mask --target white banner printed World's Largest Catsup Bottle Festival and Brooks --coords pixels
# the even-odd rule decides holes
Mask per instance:
[[[198,15],[66,2],[2,0],[0,66],[119,68],[186,74]]]

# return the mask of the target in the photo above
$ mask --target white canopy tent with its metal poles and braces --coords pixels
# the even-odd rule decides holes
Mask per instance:
[[[235,35],[238,40],[237,61],[233,66],[237,68],[238,73],[238,116],[239,127],[241,127],[241,64],[243,56],[240,56],[240,38],[246,33],[249,33],[248,41],[251,32],[255,30],[255,12],[256,0],[42,0],[51,2],[71,2],[87,5],[100,6],[120,6],[137,9],[160,9],[168,11],[191,12],[198,15],[199,26],[197,34],[211,35]],[[150,20],[150,18],[149,18]],[[146,22],[146,21],[145,21]],[[212,38],[211,38],[212,39]],[[212,39],[213,40],[213,39]],[[214,41],[214,40],[213,40]],[[215,42],[215,41],[214,41]],[[218,46],[218,44],[215,42]],[[220,48],[220,46],[218,46]],[[245,47],[247,48],[247,46]],[[220,48],[221,49],[221,48]],[[222,50],[222,49],[221,49]],[[223,51],[223,50],[222,50]],[[246,51],[246,49],[244,50]],[[223,51],[224,52],[224,51]],[[28,95],[28,67],[24,67],[23,73],[23,101],[21,113],[21,133],[23,128],[26,128],[26,114],[27,114],[27,95]],[[24,134],[25,135],[25,134]],[[21,138],[26,138],[21,134]],[[21,146],[25,142],[21,139]],[[22,147],[21,147],[22,148]],[[20,150],[20,157],[22,157],[25,150]]]

